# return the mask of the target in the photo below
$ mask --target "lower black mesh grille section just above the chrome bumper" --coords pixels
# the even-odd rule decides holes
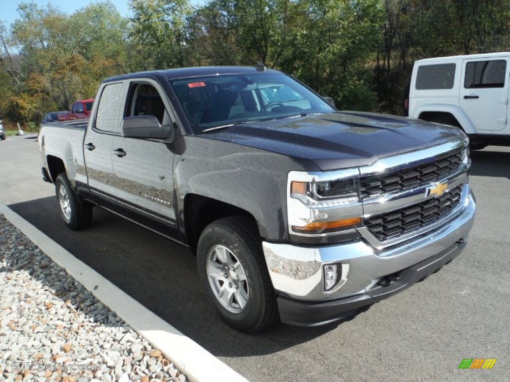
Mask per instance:
[[[463,184],[458,185],[438,198],[366,217],[365,226],[380,241],[425,227],[442,219],[457,206],[461,200],[462,187]]]

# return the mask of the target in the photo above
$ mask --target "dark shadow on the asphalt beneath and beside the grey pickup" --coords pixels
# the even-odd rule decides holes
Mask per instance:
[[[71,231],[61,220],[55,197],[9,207],[217,357],[271,354],[341,324],[296,328],[277,323],[257,335],[238,333],[206,301],[195,257],[185,247],[97,207],[90,228]]]

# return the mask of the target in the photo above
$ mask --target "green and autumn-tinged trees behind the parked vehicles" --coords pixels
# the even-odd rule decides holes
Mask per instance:
[[[68,15],[21,3],[0,23],[0,118],[23,125],[93,98],[101,79],[201,65],[266,66],[344,109],[400,113],[415,60],[504,51],[508,0],[131,0]]]

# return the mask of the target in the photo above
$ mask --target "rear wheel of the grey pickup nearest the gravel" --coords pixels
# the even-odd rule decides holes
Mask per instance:
[[[55,181],[55,194],[60,214],[67,227],[72,230],[86,228],[92,222],[92,205],[78,197],[71,188],[65,173]]]

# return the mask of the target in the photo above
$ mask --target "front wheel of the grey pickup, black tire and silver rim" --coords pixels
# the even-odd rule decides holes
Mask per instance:
[[[235,264],[236,271],[229,271],[228,277],[225,277],[228,262],[222,263],[218,259],[213,261],[213,258],[217,257],[217,251],[224,251],[230,256],[230,264]],[[232,328],[244,333],[255,333],[278,319],[276,295],[264,260],[260,236],[251,220],[243,216],[233,216],[208,225],[198,240],[197,265],[209,302],[219,317]],[[218,267],[219,272],[224,273],[216,278],[210,276],[208,269],[211,267],[214,270]],[[239,274],[243,276],[237,279],[241,281],[236,284]],[[225,277],[224,284],[221,284],[221,277]],[[237,290],[233,289],[233,284],[238,286]],[[217,297],[221,292],[218,293],[216,288],[220,286],[234,295],[229,307],[226,305],[230,303],[220,302],[220,297]]]

